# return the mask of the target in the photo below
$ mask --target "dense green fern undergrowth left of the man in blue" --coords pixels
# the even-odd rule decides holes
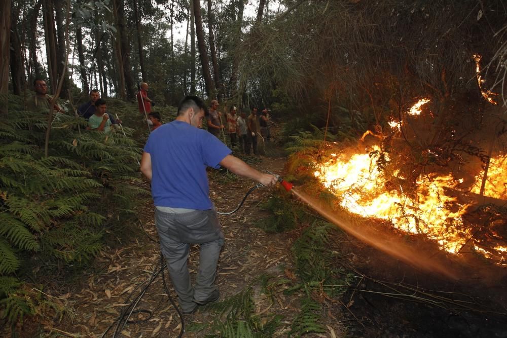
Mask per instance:
[[[0,121],[0,323],[14,327],[27,315],[61,313],[28,285],[86,267],[118,234],[129,233],[136,202],[149,194],[133,129],[106,136],[59,114],[46,157],[47,111],[24,110],[14,95],[9,105]]]

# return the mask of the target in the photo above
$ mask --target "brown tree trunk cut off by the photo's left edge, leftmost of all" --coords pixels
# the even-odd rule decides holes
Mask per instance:
[[[11,0],[0,5],[0,113],[8,113],[7,93],[9,92],[9,41],[11,35]]]

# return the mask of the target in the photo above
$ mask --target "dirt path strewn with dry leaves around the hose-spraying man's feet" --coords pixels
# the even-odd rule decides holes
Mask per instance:
[[[283,158],[263,158],[259,163],[252,164],[259,170],[270,170],[280,173]],[[248,189],[255,182],[212,173],[210,179],[211,199],[219,211],[234,209],[241,201]],[[260,205],[272,194],[267,188],[254,191],[245,201],[238,212],[230,216],[220,216],[225,236],[225,245],[220,255],[216,285],[221,291],[221,300],[235,295],[245,289],[252,281],[264,273],[283,277],[294,274],[292,271],[291,234],[267,235],[262,230],[253,227],[257,221],[265,217],[265,211]],[[153,239],[157,234],[153,222],[153,211],[147,206],[143,211],[144,230]],[[111,337],[116,328],[115,320],[121,308],[130,301],[125,301],[127,295],[137,287],[141,288],[148,280],[158,263],[160,249],[158,243],[142,235],[125,247],[116,250],[105,250],[97,257],[97,264],[93,272],[83,276],[82,288],[77,288],[69,299],[74,302],[75,317],[73,322],[66,322],[55,329],[99,337],[108,327],[105,335]],[[191,273],[195,274],[198,266],[197,247],[193,247],[189,258]],[[283,268],[280,268],[283,267]],[[168,278],[166,274],[166,278]],[[169,283],[170,286],[170,283]],[[172,296],[176,298],[171,289]],[[137,294],[137,291],[135,292]],[[291,318],[299,311],[293,299],[286,298],[281,293],[276,294],[276,303],[272,303],[259,293],[255,295],[256,311],[264,312],[268,309],[284,314]],[[180,330],[180,320],[172,305],[168,302],[161,278],[157,278],[144,294],[136,309],[149,310],[152,317],[139,324],[128,324],[123,336],[151,337],[177,336]],[[212,321],[215,314],[200,309],[193,315],[185,315],[186,324],[200,324]],[[148,318],[146,313],[132,315],[133,320]],[[286,320],[286,326],[290,321]],[[338,328],[337,328],[338,330]],[[281,330],[279,333],[283,335]],[[56,332],[56,330],[55,330]],[[187,337],[202,336],[201,333],[187,333]],[[286,334],[285,334],[286,335]],[[316,335],[328,336],[328,335]]]

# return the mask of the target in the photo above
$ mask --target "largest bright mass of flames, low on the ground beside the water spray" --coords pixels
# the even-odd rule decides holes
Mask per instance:
[[[374,146],[372,151],[380,152],[380,148]],[[387,156],[385,160],[389,161]],[[424,234],[450,253],[459,253],[471,241],[477,252],[492,255],[475,245],[478,242],[472,229],[464,226],[461,216],[467,205],[460,205],[456,198],[446,195],[446,188],[459,183],[451,176],[421,175],[415,192],[409,196],[401,186],[395,189],[393,183],[386,183],[374,157],[368,153],[350,157],[340,154],[325,163],[315,163],[314,175],[341,198],[341,206],[351,213],[387,220],[406,233]],[[399,171],[394,172],[396,178],[403,179],[399,175]],[[491,250],[496,251],[496,256],[507,252],[500,245]]]

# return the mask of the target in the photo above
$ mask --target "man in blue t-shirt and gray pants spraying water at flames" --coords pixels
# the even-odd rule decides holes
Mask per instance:
[[[224,235],[209,199],[206,167],[224,166],[263,185],[276,184],[275,176],[232,156],[224,143],[200,129],[205,110],[201,99],[186,96],[176,119],[150,134],[141,160],[141,171],[152,182],[160,246],[184,313],[220,297],[214,279]],[[187,268],[190,244],[200,244],[195,286]]]

